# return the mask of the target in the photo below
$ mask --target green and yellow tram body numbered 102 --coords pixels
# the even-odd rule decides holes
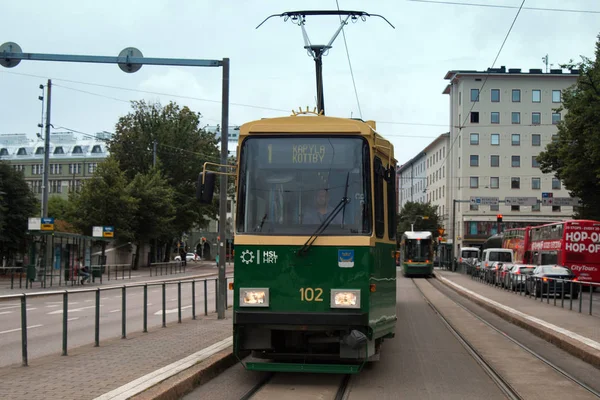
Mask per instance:
[[[372,121],[294,115],[242,125],[238,155],[235,355],[261,359],[248,370],[359,372],[396,326],[393,146]],[[302,253],[319,225],[302,210],[324,187],[331,207],[350,199],[344,224]]]

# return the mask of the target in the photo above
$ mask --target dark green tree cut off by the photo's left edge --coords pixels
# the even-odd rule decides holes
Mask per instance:
[[[0,162],[0,264],[25,251],[27,221],[39,210],[21,172]]]

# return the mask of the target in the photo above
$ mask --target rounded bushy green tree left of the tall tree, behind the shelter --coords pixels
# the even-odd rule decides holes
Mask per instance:
[[[98,164],[94,176],[85,182],[81,192],[71,194],[73,225],[90,236],[93,226],[114,226],[117,240],[132,240],[132,219],[138,201],[126,189],[127,181],[119,163],[108,157]]]

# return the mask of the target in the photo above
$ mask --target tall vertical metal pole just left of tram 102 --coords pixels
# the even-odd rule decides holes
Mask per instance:
[[[225,318],[225,303],[227,300],[227,279],[225,278],[226,252],[226,232],[227,232],[227,144],[228,144],[228,126],[229,126],[229,58],[223,59],[223,88],[222,88],[222,107],[221,114],[221,183],[219,191],[219,240],[217,249],[219,254],[219,293],[217,294],[217,318]]]

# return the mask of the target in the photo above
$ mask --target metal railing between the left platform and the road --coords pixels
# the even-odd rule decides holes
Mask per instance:
[[[226,278],[227,281],[233,280],[233,277]],[[167,286],[168,285],[176,285],[177,286],[177,322],[181,323],[182,321],[182,301],[181,301],[181,292],[182,285],[189,284],[191,286],[191,308],[192,308],[192,319],[196,319],[196,284],[200,283],[203,289],[204,294],[204,315],[208,315],[208,285],[209,282],[214,282],[215,287],[215,310],[217,309],[218,302],[218,279],[189,279],[189,280],[179,280],[179,281],[170,281],[170,282],[146,282],[140,284],[130,284],[123,286],[111,286],[111,287],[103,287],[103,288],[90,288],[90,289],[80,289],[76,291],[54,291],[54,292],[40,292],[40,293],[22,293],[22,294],[11,294],[0,296],[0,301],[2,300],[20,300],[20,310],[21,310],[21,351],[22,351],[22,365],[28,366],[28,351],[27,351],[27,299],[35,298],[41,296],[60,296],[62,295],[62,355],[66,356],[68,349],[68,316],[69,316],[69,296],[79,295],[82,293],[95,293],[95,316],[94,316],[94,343],[95,347],[100,346],[100,293],[108,292],[111,290],[121,290],[121,301],[122,301],[122,309],[121,309],[121,338],[127,338],[127,290],[135,289],[135,288],[143,288],[144,292],[144,300],[143,300],[143,325],[142,332],[148,332],[148,287],[151,286],[161,286],[162,287],[162,327],[167,327]],[[212,283],[211,283],[212,284]],[[187,307],[189,308],[189,307]],[[225,295],[225,308],[228,308],[228,295],[226,292]]]

